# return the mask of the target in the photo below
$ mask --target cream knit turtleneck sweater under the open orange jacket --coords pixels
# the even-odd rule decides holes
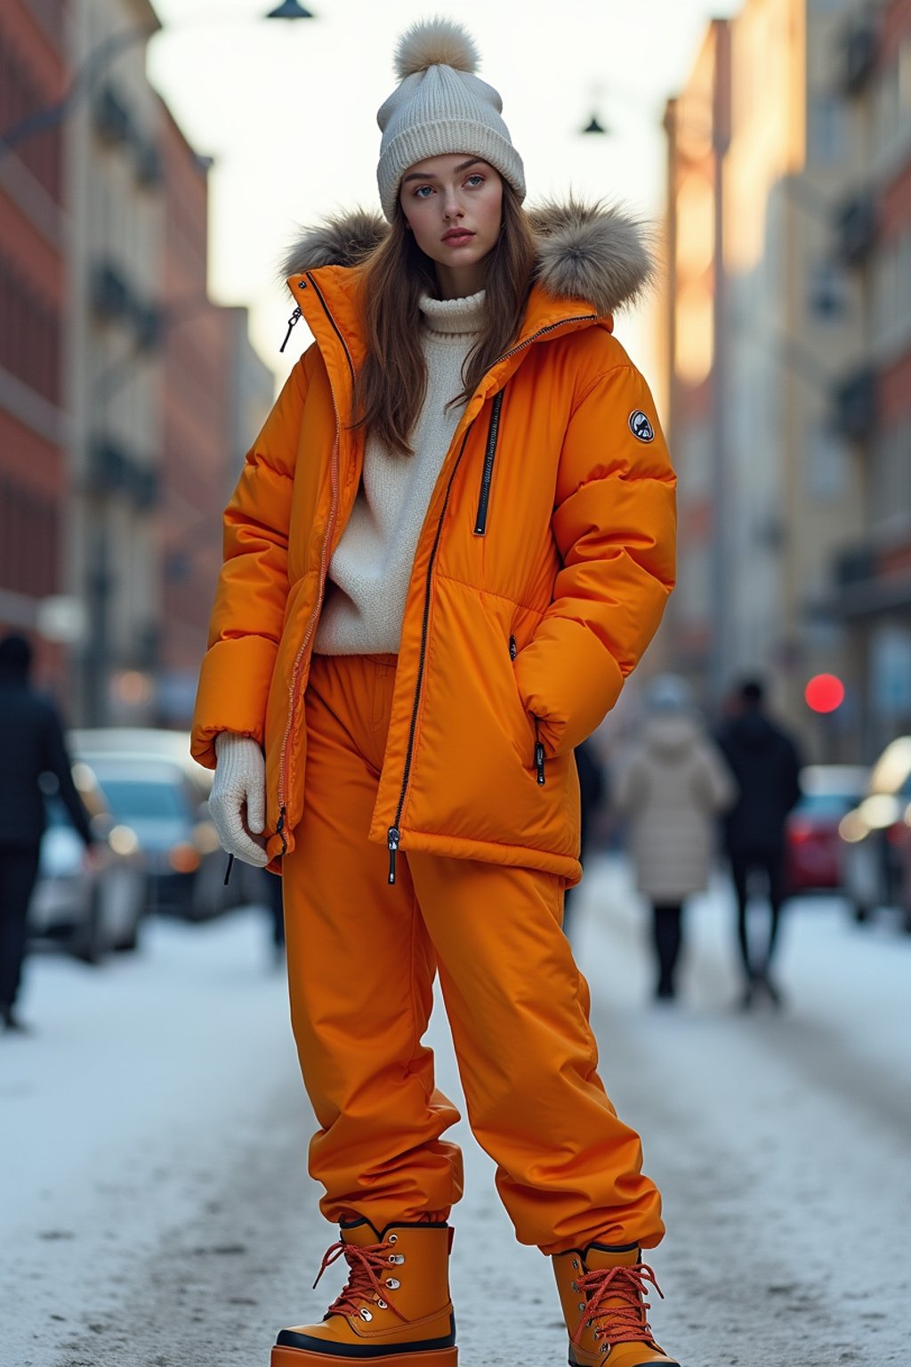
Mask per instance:
[[[329,563],[318,655],[396,655],[404,600],[430,495],[462,417],[462,365],[483,327],[483,290],[421,301],[428,392],[411,435],[414,455],[373,437],[351,518]]]

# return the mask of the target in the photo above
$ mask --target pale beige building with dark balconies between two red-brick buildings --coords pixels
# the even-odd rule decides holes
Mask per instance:
[[[161,603],[163,113],[145,77],[148,0],[72,0],[85,97],[67,123],[70,205],[70,592],[86,606],[75,712],[142,701]]]

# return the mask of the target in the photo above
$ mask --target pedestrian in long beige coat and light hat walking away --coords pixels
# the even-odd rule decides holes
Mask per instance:
[[[716,815],[731,807],[736,786],[698,722],[684,679],[658,675],[646,703],[646,718],[620,770],[615,805],[628,820],[636,886],[651,904],[654,995],[672,1001],[683,904],[707,886]]]

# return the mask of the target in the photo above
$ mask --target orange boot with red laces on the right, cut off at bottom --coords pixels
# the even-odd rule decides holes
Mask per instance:
[[[651,1337],[645,1284],[658,1296],[661,1290],[635,1244],[571,1248],[555,1255],[553,1271],[570,1330],[570,1367],[679,1367]]]

